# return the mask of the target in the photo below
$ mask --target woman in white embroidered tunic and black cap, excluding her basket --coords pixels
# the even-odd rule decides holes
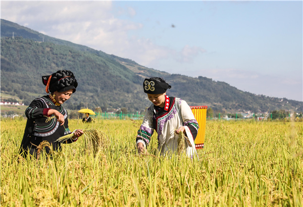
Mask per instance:
[[[196,155],[194,139],[198,132],[198,122],[185,100],[166,95],[171,86],[163,78],[153,77],[143,82],[144,92],[152,102],[146,110],[142,125],[138,130],[136,145],[139,153],[146,152],[146,146],[154,130],[158,133],[158,149],[161,154],[176,152],[179,133],[184,133],[187,157]]]

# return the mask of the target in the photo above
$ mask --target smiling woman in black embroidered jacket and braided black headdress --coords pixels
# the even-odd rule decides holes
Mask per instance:
[[[74,74],[68,70],[61,70],[52,75],[42,76],[42,82],[46,86],[46,93],[49,94],[34,99],[25,110],[27,122],[20,147],[20,154],[24,158],[28,153],[37,158],[37,147],[44,140],[53,146],[53,150],[60,150],[61,142],[55,141],[72,133],[68,128],[67,111],[62,105],[78,86]],[[74,136],[64,143],[77,141],[82,134],[83,131],[77,129]],[[51,149],[46,146],[45,150],[48,153]]]

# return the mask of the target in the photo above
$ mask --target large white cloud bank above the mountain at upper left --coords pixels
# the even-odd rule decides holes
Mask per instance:
[[[169,54],[170,48],[155,44],[148,38],[129,36],[141,23],[119,19],[111,14],[111,2],[3,2],[2,18],[17,22],[45,35],[83,44],[148,66]],[[87,13],[89,11],[89,15]],[[134,16],[128,7],[119,14]],[[180,59],[189,60],[193,48],[179,52]]]

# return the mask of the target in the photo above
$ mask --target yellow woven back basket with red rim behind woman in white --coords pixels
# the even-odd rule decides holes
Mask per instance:
[[[196,149],[202,149],[205,139],[207,106],[194,106],[190,107],[190,109],[199,124],[198,134],[194,140],[195,147]]]

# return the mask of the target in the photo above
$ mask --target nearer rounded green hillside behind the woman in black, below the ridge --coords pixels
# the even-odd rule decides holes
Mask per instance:
[[[104,109],[110,106],[140,110],[145,106],[140,102],[133,106],[131,102],[142,99],[143,94],[138,96],[138,91],[143,79],[118,62],[71,47],[21,37],[2,38],[1,44],[1,90],[18,95],[27,105],[34,98],[29,93],[45,94],[42,75],[66,69],[74,72],[79,83],[76,93],[67,102],[70,109],[85,104]]]

